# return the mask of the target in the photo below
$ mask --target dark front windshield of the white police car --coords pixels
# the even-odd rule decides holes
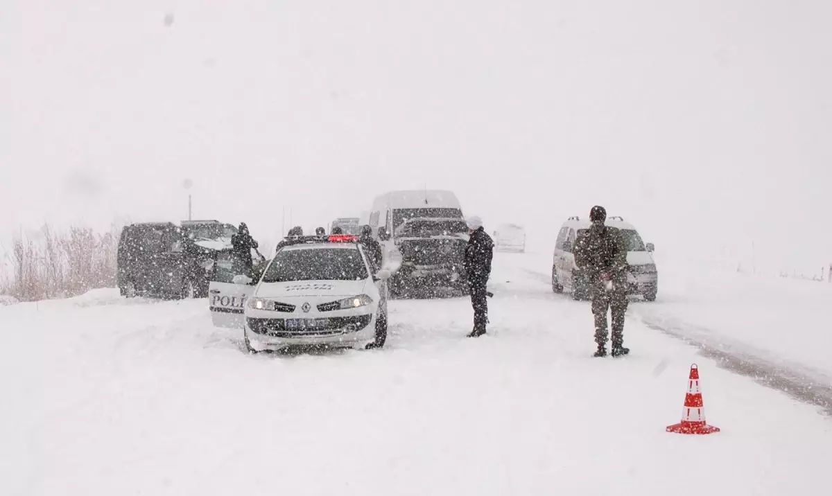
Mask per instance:
[[[262,282],[361,281],[369,277],[358,249],[281,250]]]

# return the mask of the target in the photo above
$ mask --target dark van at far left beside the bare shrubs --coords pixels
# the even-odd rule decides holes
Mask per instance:
[[[215,253],[174,223],[131,224],[118,242],[118,288],[126,297],[207,297]]]

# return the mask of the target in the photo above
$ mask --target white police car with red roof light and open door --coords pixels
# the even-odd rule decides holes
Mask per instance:
[[[220,317],[215,324],[236,322],[250,352],[384,346],[389,271],[374,274],[354,236],[307,236],[293,243],[275,253],[256,286],[243,274],[230,284],[211,282],[211,310]]]

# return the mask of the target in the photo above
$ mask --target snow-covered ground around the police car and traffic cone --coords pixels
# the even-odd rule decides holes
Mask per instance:
[[[498,253],[491,335],[464,299],[396,301],[384,350],[240,351],[203,300],[104,290],[0,308],[0,494],[817,494],[832,424]],[[657,304],[661,305],[661,302]],[[688,367],[722,432],[667,434]]]

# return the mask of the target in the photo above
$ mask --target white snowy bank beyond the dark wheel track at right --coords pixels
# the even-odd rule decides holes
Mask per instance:
[[[832,386],[832,284],[672,261],[659,271],[659,304],[634,306],[636,317]]]

